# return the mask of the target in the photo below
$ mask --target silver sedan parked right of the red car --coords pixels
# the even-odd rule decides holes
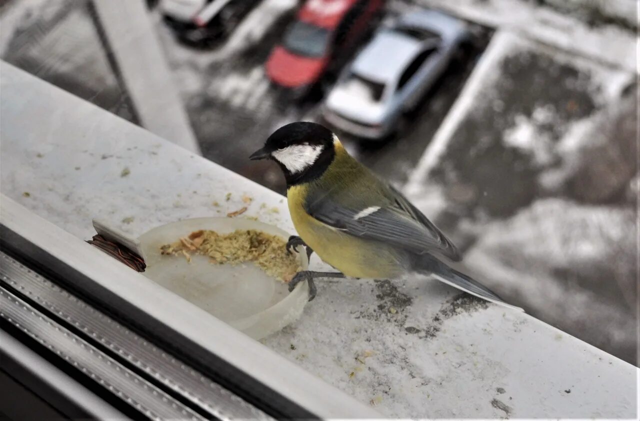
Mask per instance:
[[[402,15],[340,75],[324,102],[324,120],[360,138],[387,138],[469,38],[465,23],[444,13]]]

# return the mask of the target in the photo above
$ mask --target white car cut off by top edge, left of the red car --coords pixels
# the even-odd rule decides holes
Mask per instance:
[[[227,38],[259,1],[162,0],[159,8],[181,42],[209,47]]]

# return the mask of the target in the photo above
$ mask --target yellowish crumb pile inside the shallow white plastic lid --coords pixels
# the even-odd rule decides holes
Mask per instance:
[[[214,264],[257,264],[269,276],[289,282],[300,271],[296,257],[287,253],[286,243],[276,235],[257,230],[237,230],[231,234],[200,230],[172,244],[164,244],[163,255],[182,255],[191,262],[191,253],[210,258]]]

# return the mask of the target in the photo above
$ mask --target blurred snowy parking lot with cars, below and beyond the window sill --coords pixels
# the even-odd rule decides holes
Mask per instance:
[[[324,123],[468,272],[637,365],[636,7],[3,0],[0,56],[279,193],[248,155],[284,123]]]

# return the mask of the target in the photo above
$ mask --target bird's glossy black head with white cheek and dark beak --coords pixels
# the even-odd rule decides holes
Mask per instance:
[[[335,135],[323,125],[311,122],[289,123],[269,136],[264,148],[250,159],[273,159],[280,165],[287,187],[314,180],[335,157]]]

